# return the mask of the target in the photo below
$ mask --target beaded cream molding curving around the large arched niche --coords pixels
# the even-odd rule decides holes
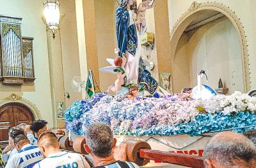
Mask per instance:
[[[216,2],[205,2],[205,3],[196,3],[193,2],[191,6],[189,7],[188,11],[186,11],[173,25],[172,31],[171,31],[171,43],[173,40],[178,40],[177,36],[175,34],[179,32],[180,27],[182,27],[184,30],[187,27],[184,27],[184,21],[186,21],[191,15],[195,14],[197,11],[201,10],[216,10],[223,13],[226,17],[230,19],[234,27],[236,28],[237,32],[239,33],[240,39],[241,39],[241,48],[243,52],[243,66],[244,66],[244,79],[245,79],[245,88],[246,92],[248,92],[251,89],[251,81],[250,81],[250,64],[249,64],[249,54],[248,54],[248,45],[247,45],[247,39],[246,34],[244,31],[243,24],[240,21],[240,18],[237,17],[235,11],[232,11],[229,6],[225,6],[223,3],[216,3]],[[187,25],[188,26],[188,25]],[[184,31],[182,30],[182,31]],[[181,36],[181,34],[180,34]],[[175,41],[177,42],[177,41]],[[176,50],[177,44],[173,46]],[[174,60],[175,57],[175,51],[172,53],[172,60]]]

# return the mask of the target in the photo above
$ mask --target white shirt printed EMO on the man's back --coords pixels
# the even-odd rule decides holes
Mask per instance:
[[[54,153],[44,158],[41,162],[38,162],[33,168],[90,168],[85,158],[78,153],[69,153],[67,151],[61,151]]]

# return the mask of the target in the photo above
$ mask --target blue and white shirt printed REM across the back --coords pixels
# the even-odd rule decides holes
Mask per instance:
[[[37,146],[26,144],[12,158],[9,158],[5,168],[32,168],[42,159],[42,153]]]

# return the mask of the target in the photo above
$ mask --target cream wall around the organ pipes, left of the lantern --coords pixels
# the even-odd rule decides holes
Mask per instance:
[[[4,87],[0,85],[0,98],[12,93],[22,95],[39,109],[40,115],[52,126],[51,87],[49,78],[49,63],[47,53],[47,38],[43,16],[44,0],[0,0],[0,13],[22,17],[22,36],[33,37],[35,60],[35,87]]]

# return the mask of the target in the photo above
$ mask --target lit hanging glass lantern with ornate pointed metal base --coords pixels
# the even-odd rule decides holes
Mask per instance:
[[[55,38],[56,32],[60,29],[60,3],[58,0],[46,0],[44,2],[44,17],[47,31],[50,31],[52,38]]]

